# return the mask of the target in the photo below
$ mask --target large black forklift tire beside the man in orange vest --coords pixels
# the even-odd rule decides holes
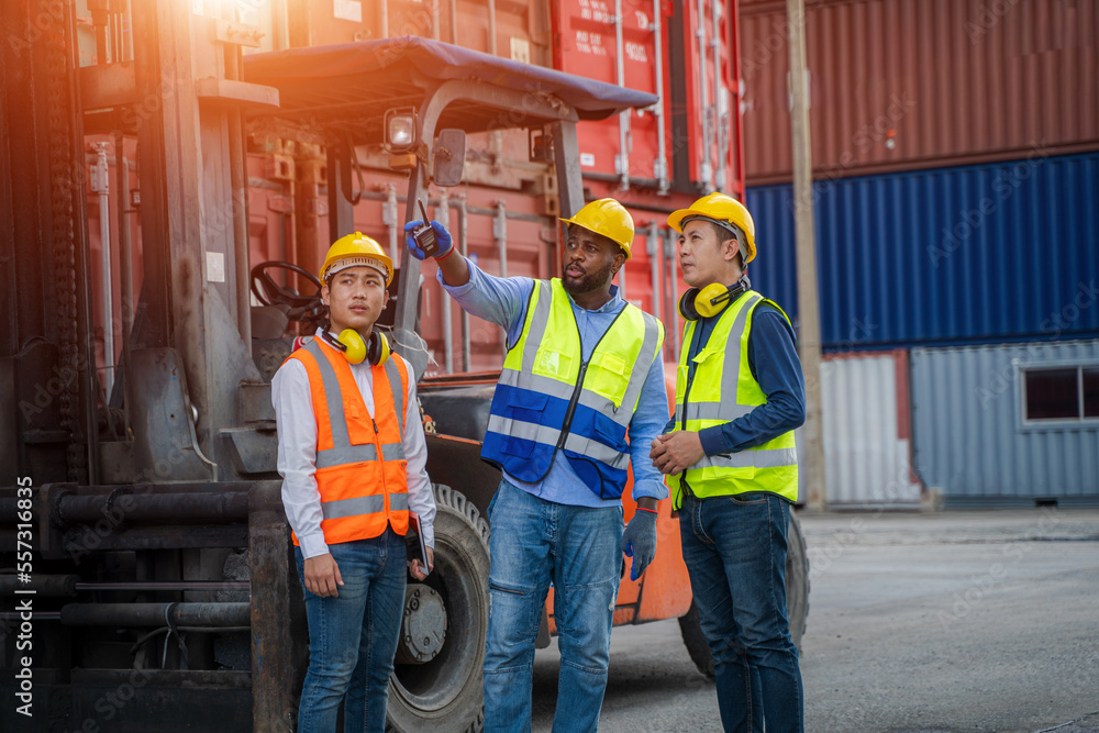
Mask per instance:
[[[398,664],[389,680],[387,731],[479,733],[485,726],[481,667],[488,628],[489,527],[474,504],[433,485],[435,568],[423,581],[446,608],[446,640],[425,664]]]

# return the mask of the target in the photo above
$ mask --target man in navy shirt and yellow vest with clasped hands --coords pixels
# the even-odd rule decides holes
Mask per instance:
[[[668,224],[680,232],[679,262],[692,287],[679,303],[676,414],[652,456],[679,511],[721,721],[726,731],[802,731],[785,575],[798,499],[793,430],[806,417],[793,329],[750,289],[755,224],[739,201],[711,193]]]

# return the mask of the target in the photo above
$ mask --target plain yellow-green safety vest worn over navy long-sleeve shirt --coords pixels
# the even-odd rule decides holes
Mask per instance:
[[[698,322],[686,323],[676,378],[675,430],[699,431],[732,422],[766,404],[767,397],[752,376],[747,359],[752,314],[762,302],[775,306],[748,290],[719,316],[709,341],[693,358],[695,376],[689,393],[686,393],[690,374],[686,345],[691,343]],[[674,492],[676,509],[682,503],[684,481],[699,498],[769,491],[797,501],[798,453],[793,432],[745,451],[706,456],[682,474],[669,476],[667,485]]]

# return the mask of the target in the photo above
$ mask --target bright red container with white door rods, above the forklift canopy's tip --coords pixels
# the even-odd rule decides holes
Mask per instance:
[[[677,38],[671,37],[674,14],[681,21],[678,27],[682,33]],[[584,122],[578,126],[580,165],[587,177],[600,180],[615,177],[622,184],[631,185],[633,180],[633,186],[641,184],[646,188],[655,184],[663,189],[662,193],[669,187],[688,190],[691,184],[698,185],[691,192],[715,188],[741,192],[742,176],[736,165],[740,157],[739,85],[734,63],[736,34],[735,23],[730,22],[734,18],[735,2],[729,0],[678,5],[645,0],[619,3],[614,0],[559,0],[554,4],[555,68],[657,93],[662,98],[659,109],[626,113],[624,145],[619,118]],[[673,53],[684,56],[682,78],[671,77],[669,59]],[[659,88],[657,64],[660,67]],[[675,131],[671,123],[671,90],[676,85],[686,90],[687,122],[686,130],[680,131]],[[660,114],[664,115],[663,151]],[[671,186],[667,179],[673,176],[673,158],[677,156],[687,157],[686,170],[689,173],[686,180],[677,180]],[[663,186],[662,177],[665,178]]]

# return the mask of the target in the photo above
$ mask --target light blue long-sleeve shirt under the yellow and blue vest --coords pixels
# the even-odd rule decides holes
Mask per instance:
[[[469,265],[469,281],[451,287],[443,281],[441,271],[435,277],[443,289],[468,313],[502,325],[508,331],[508,344],[514,344],[523,332],[526,307],[530,303],[534,280],[528,277],[500,278],[489,275],[473,262]],[[599,338],[614,322],[614,316],[625,308],[618,287],[611,286],[611,299],[602,308],[585,310],[573,302],[573,315],[580,331],[582,356],[588,359]],[[630,421],[630,463],[633,467],[633,498],[652,497],[664,499],[668,496],[664,477],[648,457],[652,443],[660,434],[668,421],[668,397],[664,389],[664,364],[657,358],[641,389],[637,409]],[[519,488],[536,497],[560,504],[575,507],[615,507],[619,499],[600,499],[576,475],[565,455],[558,451],[554,455],[550,471],[541,481],[521,481],[503,471],[504,478]]]

